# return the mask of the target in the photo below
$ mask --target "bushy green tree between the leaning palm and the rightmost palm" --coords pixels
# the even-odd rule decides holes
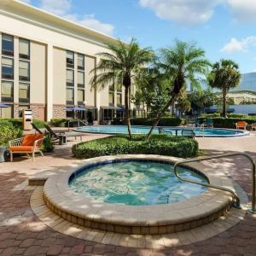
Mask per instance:
[[[211,107],[216,102],[217,96],[212,90],[194,90],[189,94],[189,102],[191,102],[191,108],[196,111],[204,112],[204,109]]]

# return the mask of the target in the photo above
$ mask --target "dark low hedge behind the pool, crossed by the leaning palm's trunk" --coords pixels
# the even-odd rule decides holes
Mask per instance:
[[[153,125],[155,119],[137,118],[131,119],[131,125]],[[182,119],[175,117],[163,117],[160,119],[159,126],[179,126],[182,124]]]

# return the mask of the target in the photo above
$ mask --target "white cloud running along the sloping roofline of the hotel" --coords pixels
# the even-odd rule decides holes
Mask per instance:
[[[94,15],[78,15],[72,13],[72,0],[40,0],[39,8],[67,20],[73,20],[98,32],[113,35],[114,26],[96,20]]]

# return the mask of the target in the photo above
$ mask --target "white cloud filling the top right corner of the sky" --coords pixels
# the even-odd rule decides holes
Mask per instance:
[[[256,1],[255,0],[226,0],[236,20],[255,21]]]

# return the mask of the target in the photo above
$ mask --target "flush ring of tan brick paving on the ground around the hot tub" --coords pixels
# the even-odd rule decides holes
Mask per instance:
[[[187,230],[166,235],[125,235],[102,230],[95,230],[73,224],[55,214],[45,205],[43,188],[37,187],[32,193],[30,204],[32,211],[49,228],[67,236],[94,241],[119,247],[136,247],[148,249],[164,249],[166,247],[178,247],[189,245],[198,241],[204,241],[212,236],[229,230],[238,224],[246,215],[248,199],[243,189],[234,183],[236,193],[241,198],[242,209],[232,207],[225,216],[218,218],[210,224],[205,224],[193,230]]]

